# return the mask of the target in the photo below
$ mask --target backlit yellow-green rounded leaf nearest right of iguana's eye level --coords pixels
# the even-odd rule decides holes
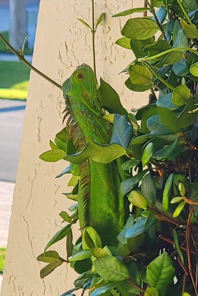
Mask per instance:
[[[131,65],[129,67],[129,75],[133,84],[147,85],[153,79],[153,75],[146,65]]]

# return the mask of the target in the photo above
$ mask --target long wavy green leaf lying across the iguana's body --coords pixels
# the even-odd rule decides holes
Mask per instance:
[[[64,160],[76,164],[84,163],[87,159],[92,159],[96,163],[110,163],[125,153],[125,149],[116,143],[101,145],[90,141],[81,152],[67,155]]]

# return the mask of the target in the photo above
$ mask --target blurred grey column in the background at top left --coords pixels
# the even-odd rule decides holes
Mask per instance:
[[[25,0],[9,0],[9,42],[21,48],[26,35]]]

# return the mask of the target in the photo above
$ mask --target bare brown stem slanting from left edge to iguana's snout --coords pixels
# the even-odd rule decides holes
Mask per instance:
[[[24,56],[20,53],[18,53],[9,43],[8,41],[2,36],[2,34],[0,33],[0,40],[3,41],[3,43],[7,46],[7,48],[9,48],[9,50],[15,54],[15,56],[17,56],[17,58],[23,63],[25,64],[28,68],[30,68],[31,70],[33,70],[34,72],[36,72],[38,75],[42,76],[43,78],[45,78],[47,81],[49,81],[50,83],[54,84],[55,86],[57,86],[59,89],[62,89],[61,85],[59,85],[58,83],[56,83],[54,80],[52,80],[51,78],[49,78],[48,76],[46,76],[44,73],[42,73],[41,71],[39,71],[38,69],[36,69],[35,67],[33,67],[30,63],[28,63],[28,61],[26,61],[26,59],[24,58]]]

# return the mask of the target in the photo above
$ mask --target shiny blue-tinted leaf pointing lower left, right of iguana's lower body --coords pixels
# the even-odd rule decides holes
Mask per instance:
[[[138,222],[136,222],[131,228],[127,230],[125,237],[129,239],[147,231],[157,219],[153,218],[147,225],[145,225],[146,220],[147,218],[143,217]]]

